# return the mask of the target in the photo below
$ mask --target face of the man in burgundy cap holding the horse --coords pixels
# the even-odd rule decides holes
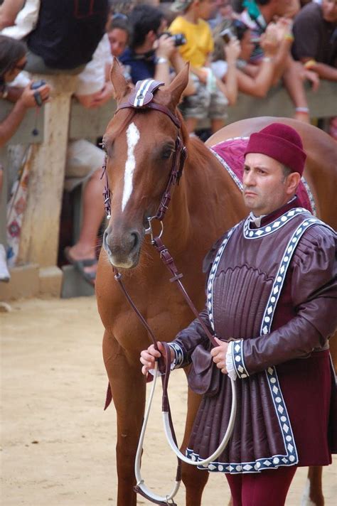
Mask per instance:
[[[280,208],[290,196],[281,163],[260,153],[246,155],[243,200],[255,216],[267,215]]]

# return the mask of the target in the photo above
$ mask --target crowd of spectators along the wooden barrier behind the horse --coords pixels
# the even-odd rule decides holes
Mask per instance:
[[[14,134],[26,109],[36,106],[34,72],[45,74],[47,82],[48,75],[77,75],[74,96],[90,109],[114,96],[112,58],[119,60],[130,85],[149,77],[167,85],[189,62],[190,80],[180,107],[190,134],[204,119],[211,131],[220,129],[227,107],[240,100],[238,92],[263,98],[279,85],[294,103],[294,118],[310,122],[305,82],[316,90],[322,79],[337,80],[336,0],[95,0],[87,18],[89,32],[73,4],[80,9],[81,2],[68,0],[0,0],[0,95],[16,102],[0,123],[0,146]],[[18,58],[1,53],[11,39],[26,41],[27,47],[20,43]],[[11,60],[8,68],[6,58]],[[25,65],[31,74],[17,77]],[[48,84],[39,92],[48,99]],[[334,118],[331,132],[336,135]],[[80,239],[65,254],[91,283],[103,216],[101,162],[99,147],[84,139],[69,141],[65,189],[85,182],[85,193]],[[86,208],[92,202],[97,202],[95,212]],[[1,252],[0,246],[0,257]],[[1,276],[0,266],[1,277],[6,280],[9,274],[5,269]]]

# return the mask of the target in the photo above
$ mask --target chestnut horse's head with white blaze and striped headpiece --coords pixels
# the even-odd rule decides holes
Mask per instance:
[[[188,66],[163,89],[161,83],[146,80],[132,90],[117,60],[110,77],[117,112],[103,137],[106,196],[111,195],[103,246],[114,267],[130,269],[139,262],[149,219],[164,215],[162,198],[170,192],[170,178],[174,184],[181,175],[188,137],[176,107],[188,82]]]

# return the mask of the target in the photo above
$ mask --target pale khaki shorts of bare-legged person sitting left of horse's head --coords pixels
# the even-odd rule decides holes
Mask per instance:
[[[69,141],[65,161],[65,190],[72,191],[90,179],[97,168],[102,167],[104,157],[102,149],[85,139]]]

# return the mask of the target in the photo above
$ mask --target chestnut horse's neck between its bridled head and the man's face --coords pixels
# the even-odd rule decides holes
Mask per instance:
[[[164,237],[173,250],[182,252],[198,237],[220,234],[245,215],[241,192],[228,172],[203,143],[190,139],[183,176],[164,219]]]

